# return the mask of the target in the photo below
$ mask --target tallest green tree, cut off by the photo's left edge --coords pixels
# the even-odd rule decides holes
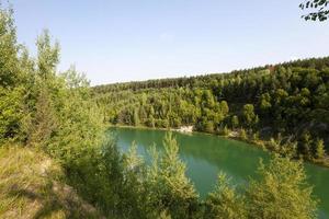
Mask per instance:
[[[23,136],[23,76],[20,69],[19,45],[13,10],[0,8],[0,142]],[[23,138],[23,137],[22,137]]]

